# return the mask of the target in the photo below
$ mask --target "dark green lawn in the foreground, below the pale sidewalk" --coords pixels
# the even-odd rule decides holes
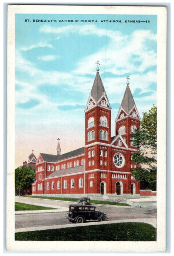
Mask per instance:
[[[18,241],[156,241],[156,229],[126,222],[15,233]]]

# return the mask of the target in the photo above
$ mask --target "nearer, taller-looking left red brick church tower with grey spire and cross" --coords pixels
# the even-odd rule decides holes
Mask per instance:
[[[109,145],[111,143],[111,107],[105,88],[97,74],[85,109],[86,170],[108,170]],[[95,175],[100,175],[96,172]],[[99,180],[99,178],[97,179]],[[99,184],[96,185],[99,188]],[[99,191],[95,191],[95,193]]]

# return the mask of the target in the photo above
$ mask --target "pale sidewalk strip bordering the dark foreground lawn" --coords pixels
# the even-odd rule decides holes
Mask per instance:
[[[111,223],[122,223],[122,222],[140,222],[140,223],[148,223],[154,227],[156,227],[156,219],[147,218],[147,219],[120,219],[115,221],[102,221],[102,222],[85,222],[80,223],[80,226],[92,226],[92,225],[103,225],[103,224],[111,224]],[[17,232],[26,232],[26,231],[36,231],[36,230],[47,230],[47,229],[62,229],[66,227],[77,227],[79,223],[73,224],[65,224],[65,225],[54,225],[54,226],[41,226],[41,227],[26,227],[21,229],[15,229],[15,233]]]

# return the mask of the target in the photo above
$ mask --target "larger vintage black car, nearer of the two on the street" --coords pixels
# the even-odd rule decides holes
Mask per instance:
[[[95,208],[95,206],[70,204],[67,219],[72,223],[83,223],[90,220],[107,221],[107,214],[96,211]]]

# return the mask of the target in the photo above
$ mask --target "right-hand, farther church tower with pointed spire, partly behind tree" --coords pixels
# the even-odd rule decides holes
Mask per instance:
[[[129,88],[129,76],[126,78],[127,86],[116,118],[116,136],[121,135],[128,148],[133,146],[132,133],[140,128],[140,115]]]

